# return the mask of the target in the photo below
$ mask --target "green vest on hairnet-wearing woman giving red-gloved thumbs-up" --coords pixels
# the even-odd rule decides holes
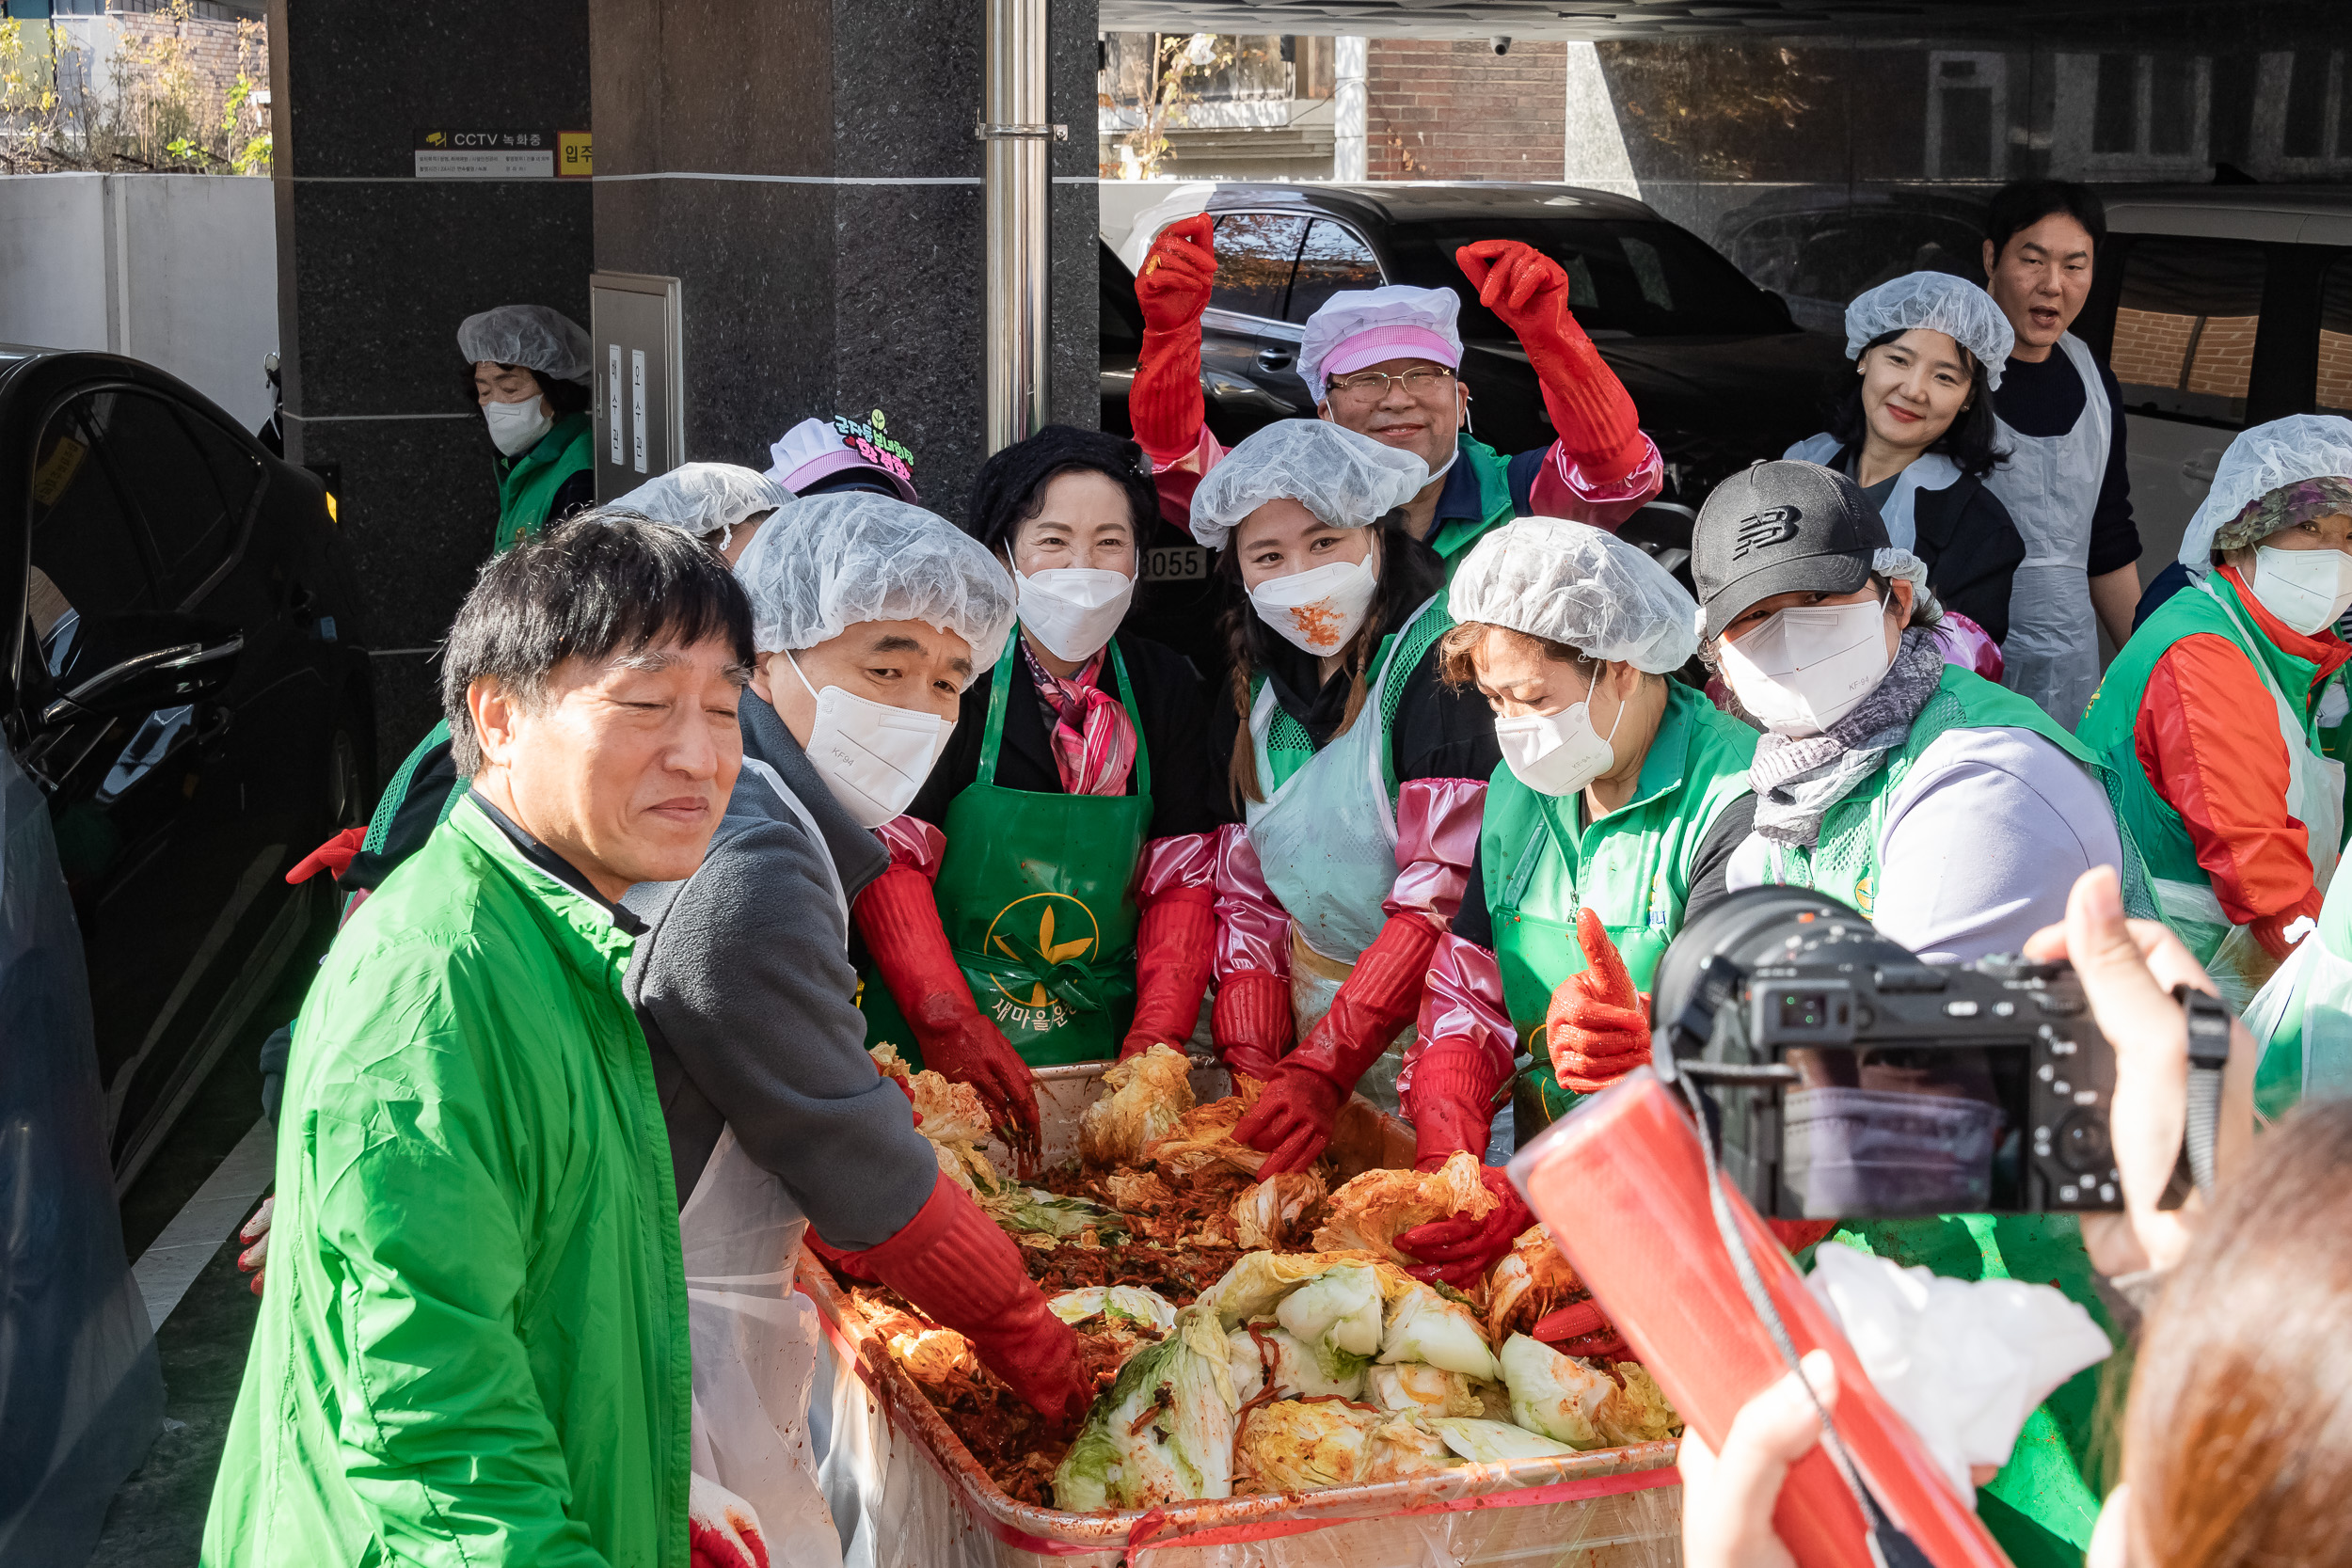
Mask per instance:
[[[1670,679],[1632,799],[1609,816],[1585,820],[1581,792],[1529,790],[1510,764],[1486,780],[1479,867],[1494,957],[1519,1048],[1534,1056],[1512,1086],[1522,1145],[1583,1098],[1559,1086],[1541,1039],[1552,992],[1585,966],[1576,912],[1599,912],[1635,987],[1646,992],[1682,931],[1698,846],[1748,795],[1755,750],[1757,731]]]

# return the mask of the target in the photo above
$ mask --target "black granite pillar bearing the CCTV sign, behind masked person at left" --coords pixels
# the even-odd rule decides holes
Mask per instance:
[[[273,0],[270,89],[287,456],[339,477],[390,773],[499,517],[456,324],[517,301],[586,324],[593,266],[586,181],[416,179],[414,136],[586,129],[588,0]]]

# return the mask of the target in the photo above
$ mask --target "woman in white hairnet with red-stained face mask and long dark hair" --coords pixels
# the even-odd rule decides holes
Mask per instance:
[[[1268,1173],[1312,1164],[1359,1081],[1411,1114],[1397,1046],[1501,759],[1486,703],[1437,677],[1444,564],[1397,527],[1423,484],[1418,456],[1298,418],[1192,494],[1235,599],[1209,745],[1247,823],[1218,849],[1211,1027],[1265,1081],[1235,1135]]]

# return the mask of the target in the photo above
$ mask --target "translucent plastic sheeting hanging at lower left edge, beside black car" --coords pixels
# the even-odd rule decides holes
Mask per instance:
[[[80,1563],[162,1422],[122,1258],[82,936],[49,809],[0,748],[0,1563]]]

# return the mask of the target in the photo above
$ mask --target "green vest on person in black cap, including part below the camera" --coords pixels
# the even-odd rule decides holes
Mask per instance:
[[[1903,745],[1889,752],[1886,766],[1865,788],[1830,806],[1816,849],[1773,844],[1766,882],[1813,889],[1851,903],[1867,917],[1879,891],[1886,809],[1903,778],[1945,731],[1992,726],[2042,736],[2089,769],[2107,790],[2110,804],[2117,799],[2114,771],[2042,712],[2039,703],[2004,691],[1971,670],[1945,665],[1936,696],[1912,719]],[[2124,907],[2140,914],[2152,910],[2147,872],[2129,825],[2122,820],[2117,825],[2124,842]],[[2025,1279],[2058,1286],[2107,1331],[2107,1338],[2117,1338],[2093,1286],[2091,1258],[2082,1248],[2082,1222],[2070,1213],[1870,1220],[1839,1229],[1835,1239],[1945,1279]],[[2096,1427],[2098,1373],[2098,1366],[2086,1368],[2051,1394],[2025,1420],[2025,1432],[2018,1434],[2002,1474],[1978,1488],[1978,1519],[2018,1568],[2058,1563],[2079,1568],[2082,1552],[2091,1542],[2100,1500],[2084,1481],[2084,1455],[2091,1450]]]

